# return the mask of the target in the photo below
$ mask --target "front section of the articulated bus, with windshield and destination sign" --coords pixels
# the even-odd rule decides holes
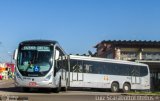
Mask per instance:
[[[16,62],[15,86],[24,91],[30,88],[67,90],[68,58],[57,41],[27,40],[14,52]]]

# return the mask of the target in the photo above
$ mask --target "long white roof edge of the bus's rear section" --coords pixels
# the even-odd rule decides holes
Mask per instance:
[[[89,57],[89,56],[77,56],[77,55],[69,55],[69,56],[70,56],[70,59],[77,59],[77,60],[89,60],[89,61],[98,61],[98,62],[110,62],[110,63],[148,66],[143,63],[137,63],[137,62],[131,62],[131,61],[125,61],[125,60],[116,60],[116,59],[107,59],[107,58]]]

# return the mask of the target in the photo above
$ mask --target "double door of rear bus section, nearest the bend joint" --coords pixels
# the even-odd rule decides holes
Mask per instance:
[[[83,66],[80,63],[75,64],[72,68],[72,81],[83,81]]]

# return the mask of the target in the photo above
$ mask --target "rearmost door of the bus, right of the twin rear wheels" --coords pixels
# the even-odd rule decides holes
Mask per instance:
[[[131,82],[133,84],[140,84],[141,83],[140,68],[139,67],[132,67],[132,69],[131,69]]]

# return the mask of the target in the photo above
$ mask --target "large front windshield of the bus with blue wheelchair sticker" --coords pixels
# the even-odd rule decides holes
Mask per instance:
[[[52,67],[53,48],[50,46],[22,46],[17,67],[23,76],[45,76]]]

